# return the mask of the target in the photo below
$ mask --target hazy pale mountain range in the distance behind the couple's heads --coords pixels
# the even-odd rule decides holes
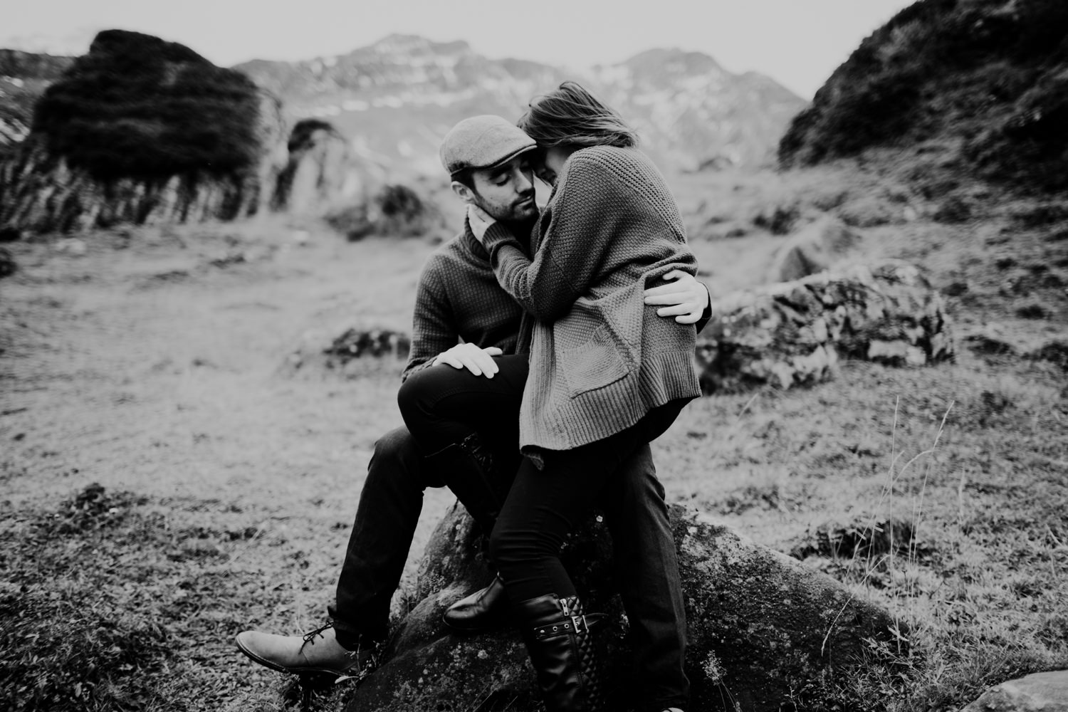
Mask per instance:
[[[626,62],[572,72],[492,60],[466,42],[390,35],[347,54],[234,67],[281,97],[290,120],[330,121],[365,158],[440,170],[437,147],[457,121],[518,118],[532,96],[576,79],[600,94],[668,165],[767,161],[804,101],[773,80],[734,75],[700,52],[654,49]]]

